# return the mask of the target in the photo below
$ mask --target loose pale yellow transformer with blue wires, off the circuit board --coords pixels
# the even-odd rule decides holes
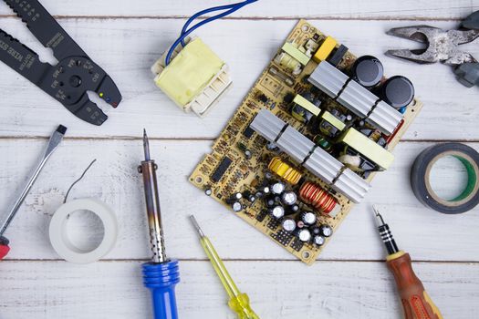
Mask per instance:
[[[179,46],[168,66],[164,56],[151,67],[155,84],[184,111],[203,116],[232,83],[224,61],[199,37]]]

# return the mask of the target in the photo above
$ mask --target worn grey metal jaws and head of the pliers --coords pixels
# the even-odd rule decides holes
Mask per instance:
[[[386,55],[391,57],[400,57],[421,64],[441,62],[450,66],[477,62],[471,54],[459,50],[458,46],[473,42],[479,37],[479,29],[446,31],[434,26],[421,25],[395,27],[387,34],[426,45],[423,49],[388,50]]]

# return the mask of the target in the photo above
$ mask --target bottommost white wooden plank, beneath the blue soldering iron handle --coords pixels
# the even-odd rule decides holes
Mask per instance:
[[[199,244],[198,244],[199,246]],[[384,262],[225,262],[261,318],[401,319]],[[444,318],[479,311],[477,263],[414,262]],[[181,262],[181,318],[235,318],[209,262]],[[5,319],[151,318],[141,262],[1,262],[0,316]]]

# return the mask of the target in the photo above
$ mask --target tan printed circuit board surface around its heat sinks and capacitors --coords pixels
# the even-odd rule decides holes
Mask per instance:
[[[295,47],[302,48],[301,51],[303,53],[307,51],[306,47],[308,47],[311,52],[307,52],[306,55],[312,55],[326,39],[327,36],[316,27],[311,26],[305,20],[300,20],[286,38],[286,44],[293,44]],[[335,49],[338,50],[339,46],[338,43],[335,44]],[[270,185],[275,180],[282,180],[268,169],[271,160],[274,158],[283,160],[300,173],[301,181],[313,182],[323,190],[327,190],[328,196],[337,201],[340,208],[334,216],[330,216],[318,211],[310,203],[301,201],[300,196],[298,196],[299,211],[292,214],[289,213],[288,218],[297,221],[299,215],[304,213],[304,211],[315,211],[317,214],[315,226],[328,225],[335,232],[341,221],[348,215],[354,202],[341,193],[341,191],[331,187],[329,182],[320,179],[318,174],[313,174],[301,165],[301,162],[292,159],[287,152],[278,149],[274,143],[268,142],[265,137],[252,129],[251,123],[258,112],[262,109],[267,109],[289,127],[297,129],[298,132],[308,139],[314,140],[316,144],[320,144],[321,148],[326,149],[329,154],[338,158],[341,154],[344,155],[343,152],[345,151],[344,144],[337,142],[339,137],[343,136],[343,133],[339,132],[333,138],[321,139],[321,132],[318,133],[318,129],[314,129],[318,126],[318,124],[314,124],[314,120],[305,122],[298,120],[297,117],[292,115],[292,97],[299,94],[307,97],[310,95],[318,97],[322,111],[328,110],[329,113],[342,114],[343,119],[348,118],[343,120],[348,127],[358,127],[360,125],[362,127],[358,128],[358,130],[363,129],[363,127],[366,128],[370,134],[369,139],[375,139],[374,142],[379,143],[377,137],[382,137],[381,148],[388,151],[394,149],[398,144],[401,136],[410,126],[411,121],[421,110],[422,103],[414,98],[407,107],[402,109],[401,123],[395,128],[394,132],[389,135],[380,134],[370,124],[359,121],[360,118],[352,114],[347,108],[344,108],[344,106],[338,103],[336,98],[328,97],[307,81],[307,78],[318,67],[318,62],[313,58],[308,59],[304,65],[295,64],[294,62],[296,61],[285,62],[282,60],[285,58],[284,51],[285,46],[282,44],[275,58],[255,82],[254,87],[249,91],[240,107],[234,112],[234,116],[226,124],[219,138],[214,140],[212,153],[205,155],[203,160],[193,170],[190,181],[194,186],[203,190],[206,195],[222,203],[229,211],[234,211],[234,214],[254,226],[258,231],[266,234],[266,236],[284,247],[288,252],[297,256],[302,262],[311,264],[316,261],[318,254],[334,235],[331,237],[326,236],[325,242],[320,244],[310,240],[301,241],[297,236],[297,232],[288,232],[282,227],[282,218],[277,218],[271,214],[271,210],[266,205],[265,198],[262,198],[262,196],[268,196],[259,191],[260,188]],[[293,52],[292,55],[295,56],[295,53]],[[356,59],[357,57],[348,50],[341,55],[341,58],[336,63],[336,68],[346,72],[353,66]],[[381,78],[382,82],[384,80],[386,80],[386,77]],[[365,130],[363,129],[362,131]],[[373,138],[373,135],[376,138]],[[360,154],[352,154],[362,159]],[[370,165],[371,167],[373,169],[355,171],[362,180],[369,183],[377,171],[380,170],[374,163]],[[284,184],[286,185],[286,190],[298,192],[299,184],[293,185],[287,181]],[[241,196],[239,195],[236,199],[232,199],[234,194],[237,193],[243,194],[243,199],[240,200]],[[253,198],[251,201],[248,201],[248,196],[251,197],[252,194],[254,195]],[[232,208],[232,203],[236,201],[241,202],[239,209],[237,207],[236,209]]]

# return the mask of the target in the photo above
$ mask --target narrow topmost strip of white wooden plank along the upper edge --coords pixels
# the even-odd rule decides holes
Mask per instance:
[[[155,1],[145,0],[131,5],[128,0],[55,1],[44,0],[52,15],[61,16],[189,16],[204,8],[238,1]],[[334,19],[460,19],[479,8],[477,1],[308,1],[261,0],[235,13],[245,18],[334,18]],[[11,15],[5,6],[0,15]]]

